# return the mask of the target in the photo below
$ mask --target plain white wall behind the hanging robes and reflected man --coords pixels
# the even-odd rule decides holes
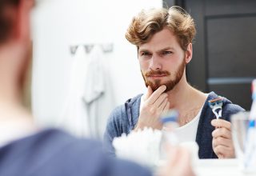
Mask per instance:
[[[32,103],[43,124],[60,118],[68,89],[70,45],[113,42],[109,62],[116,104],[145,91],[136,47],[126,41],[131,18],[161,0],[42,0],[34,10]]]

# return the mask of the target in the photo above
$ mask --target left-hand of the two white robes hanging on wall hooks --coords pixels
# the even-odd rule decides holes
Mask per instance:
[[[83,46],[78,46],[72,59],[74,62],[70,70],[70,78],[67,79],[69,90],[57,126],[78,137],[90,137],[88,113],[82,99],[88,69],[88,59]]]

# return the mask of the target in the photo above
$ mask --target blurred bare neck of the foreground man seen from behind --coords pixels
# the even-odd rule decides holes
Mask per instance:
[[[30,117],[30,113],[21,103],[21,87],[17,71],[20,52],[17,48],[11,44],[0,48],[0,125],[2,120]]]

